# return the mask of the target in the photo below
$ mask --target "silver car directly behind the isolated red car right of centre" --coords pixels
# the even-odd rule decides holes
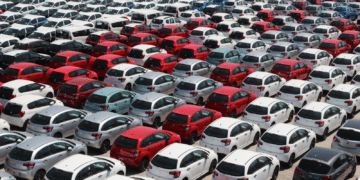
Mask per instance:
[[[288,42],[278,42],[273,44],[269,50],[269,53],[275,56],[275,59],[291,59],[294,56],[297,56],[301,50],[295,43]]]

